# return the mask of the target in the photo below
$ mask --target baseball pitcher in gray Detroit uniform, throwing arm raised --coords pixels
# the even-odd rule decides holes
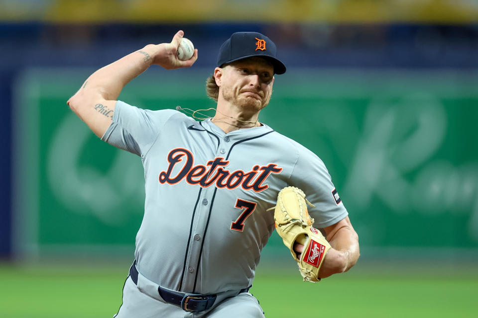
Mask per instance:
[[[309,231],[315,219],[325,233],[322,241],[309,240],[315,245],[283,237],[298,261],[308,254],[312,281],[354,266],[358,236],[324,163],[258,121],[274,75],[286,71],[268,37],[238,32],[221,46],[207,80],[207,93],[217,101],[212,118],[196,121],[177,110],[116,100],[151,65],[193,65],[197,50],[187,61],[176,56],[183,35],[178,31],[171,43],[146,45],[101,68],[68,100],[98,137],[138,155],[144,166],[144,217],[115,317],[264,317],[248,291],[262,248],[276,226],[283,229],[277,213],[289,216],[296,212],[287,209],[297,208],[301,216],[293,226],[305,213],[301,229]],[[315,206],[310,218],[305,194]],[[301,271],[304,279],[311,272]]]

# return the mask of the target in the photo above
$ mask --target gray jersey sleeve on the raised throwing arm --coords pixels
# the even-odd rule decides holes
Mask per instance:
[[[148,110],[116,103],[113,122],[101,140],[138,156],[144,155],[158,137],[164,124],[177,111]]]

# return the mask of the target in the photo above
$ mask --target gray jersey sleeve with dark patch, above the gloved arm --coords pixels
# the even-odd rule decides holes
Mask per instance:
[[[324,162],[305,147],[300,151],[291,181],[315,206],[308,207],[309,214],[315,219],[315,228],[331,226],[349,215]]]

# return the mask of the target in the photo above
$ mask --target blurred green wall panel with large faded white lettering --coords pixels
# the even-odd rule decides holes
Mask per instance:
[[[101,142],[66,105],[93,71],[32,68],[15,81],[19,256],[132,255],[141,161]],[[209,74],[151,69],[119,99],[149,109],[209,108]],[[259,120],[324,160],[365,255],[476,255],[476,87],[476,71],[295,68],[277,76]],[[276,235],[266,250],[275,248],[283,248]]]

